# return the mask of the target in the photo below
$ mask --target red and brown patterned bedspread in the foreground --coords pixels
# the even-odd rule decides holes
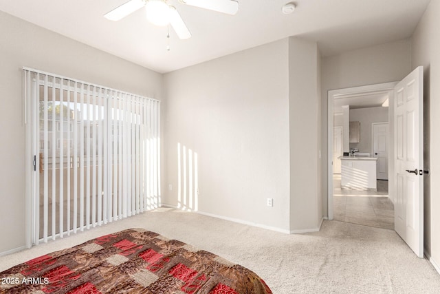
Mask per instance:
[[[144,229],[43,255],[0,278],[0,293],[272,293],[249,269]]]

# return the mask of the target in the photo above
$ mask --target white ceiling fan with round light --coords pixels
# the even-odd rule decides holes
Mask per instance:
[[[179,3],[205,8],[225,14],[236,14],[239,11],[239,2],[235,0],[178,0]],[[106,19],[119,21],[127,15],[145,7],[146,18],[154,25],[170,24],[180,39],[188,39],[191,36],[184,20],[174,6],[170,6],[167,0],[130,0],[121,6],[104,14]]]

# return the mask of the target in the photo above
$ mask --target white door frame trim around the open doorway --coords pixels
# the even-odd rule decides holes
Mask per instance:
[[[327,211],[329,220],[333,220],[333,101],[338,98],[347,98],[362,96],[365,94],[379,94],[388,93],[389,95],[389,107],[388,107],[388,122],[390,117],[393,117],[393,91],[396,82],[391,83],[380,83],[374,85],[365,85],[360,87],[349,87],[338,90],[329,90],[327,92]],[[388,132],[393,134],[393,125],[388,125]],[[393,146],[393,142],[390,142],[388,147]],[[388,148],[391,149],[391,148]],[[394,162],[390,160],[393,154],[388,153],[388,179],[391,179],[390,175],[394,173]],[[393,187],[393,185],[389,185]],[[389,188],[388,188],[389,189]],[[394,199],[394,189],[389,189],[388,197],[393,201]]]

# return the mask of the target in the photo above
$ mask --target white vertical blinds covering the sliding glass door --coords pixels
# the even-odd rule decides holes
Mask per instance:
[[[160,103],[23,68],[34,158],[28,246],[154,209]]]

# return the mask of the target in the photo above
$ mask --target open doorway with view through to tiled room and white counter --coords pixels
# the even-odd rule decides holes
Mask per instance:
[[[393,183],[388,182],[388,176],[384,177],[384,173],[388,175],[389,172],[393,172],[392,165],[391,170],[388,171],[390,151],[384,150],[384,147],[388,147],[392,154],[393,142],[389,140],[390,134],[384,132],[388,132],[388,120],[392,109],[388,108],[387,103],[395,85],[396,83],[386,83],[329,92],[330,220],[394,229]],[[360,125],[357,131],[358,138],[351,140],[350,121]],[[340,132],[338,128],[342,129],[340,142],[336,142],[340,138],[335,136]],[[335,147],[340,145],[343,154],[353,158],[343,158],[344,160],[335,158]],[[386,158],[382,157],[384,151]],[[362,169],[353,167],[352,162],[355,162],[354,165],[358,165],[359,162],[362,163],[361,165],[371,163],[374,171],[362,174]],[[347,181],[344,182],[342,177],[345,178],[347,172],[353,170],[356,175],[349,181],[351,186],[347,186]],[[366,170],[369,171],[368,168]],[[366,175],[373,177],[374,185],[371,183],[364,185],[371,182]]]

